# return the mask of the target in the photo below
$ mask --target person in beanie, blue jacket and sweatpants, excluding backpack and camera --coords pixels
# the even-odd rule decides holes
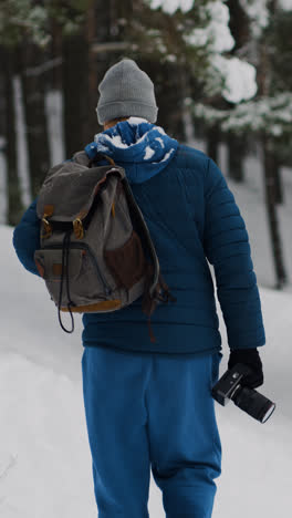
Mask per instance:
[[[210,390],[222,353],[208,261],[227,327],[229,367],[249,363],[250,386],[263,382],[255,348],[265,335],[247,229],[213,160],[155,124],[154,86],[134,61],[112,66],[100,93],[104,131],[85,151],[91,158],[104,153],[125,168],[177,299],[154,312],[154,343],[140,299],[119,311],[83,314],[84,405],[100,516],[148,516],[152,465],[168,518],[209,518],[213,479],[221,473]],[[24,267],[38,274],[35,203],[13,244]],[[31,237],[25,246],[23,230]]]

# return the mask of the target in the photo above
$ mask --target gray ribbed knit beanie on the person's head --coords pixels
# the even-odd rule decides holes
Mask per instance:
[[[98,85],[96,112],[101,125],[117,117],[143,117],[155,123],[154,84],[133,60],[124,59],[111,66]]]

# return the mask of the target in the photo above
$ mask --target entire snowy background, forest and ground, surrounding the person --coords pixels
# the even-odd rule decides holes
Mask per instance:
[[[292,0],[0,0],[0,516],[96,516],[81,385],[81,319],[66,335],[12,231],[48,168],[103,128],[105,71],[134,59],[157,124],[221,167],[247,224],[265,327],[264,425],[216,404],[215,518],[286,516],[292,406]],[[217,301],[218,302],[218,301]],[[228,343],[219,303],[223,360]],[[45,332],[44,332],[45,330]],[[152,480],[149,511],[164,516]]]

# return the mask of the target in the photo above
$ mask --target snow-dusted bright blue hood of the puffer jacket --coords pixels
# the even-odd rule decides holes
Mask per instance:
[[[96,153],[111,156],[125,168],[129,183],[142,184],[168,165],[177,147],[178,142],[160,126],[145,118],[129,117],[97,133],[85,152],[90,158],[94,158]]]

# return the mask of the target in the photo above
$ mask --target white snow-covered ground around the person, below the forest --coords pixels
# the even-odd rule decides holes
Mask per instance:
[[[223,169],[223,156],[222,164]],[[286,203],[280,209],[285,261],[292,278],[292,175],[284,172]],[[272,289],[261,176],[249,167],[246,186],[228,180],[250,236],[265,325],[261,351],[265,382],[259,392],[278,405],[265,424],[216,403],[222,443],[215,518],[288,516],[292,475],[292,286]],[[96,517],[91,455],[83,408],[81,317],[75,333],[62,331],[42,279],[18,261],[11,227],[0,226],[2,253],[0,327],[0,516],[3,518]],[[227,369],[226,329],[218,304]],[[62,315],[65,323],[70,318]],[[148,509],[165,516],[152,477]],[[138,518],[138,517],[137,517]]]

